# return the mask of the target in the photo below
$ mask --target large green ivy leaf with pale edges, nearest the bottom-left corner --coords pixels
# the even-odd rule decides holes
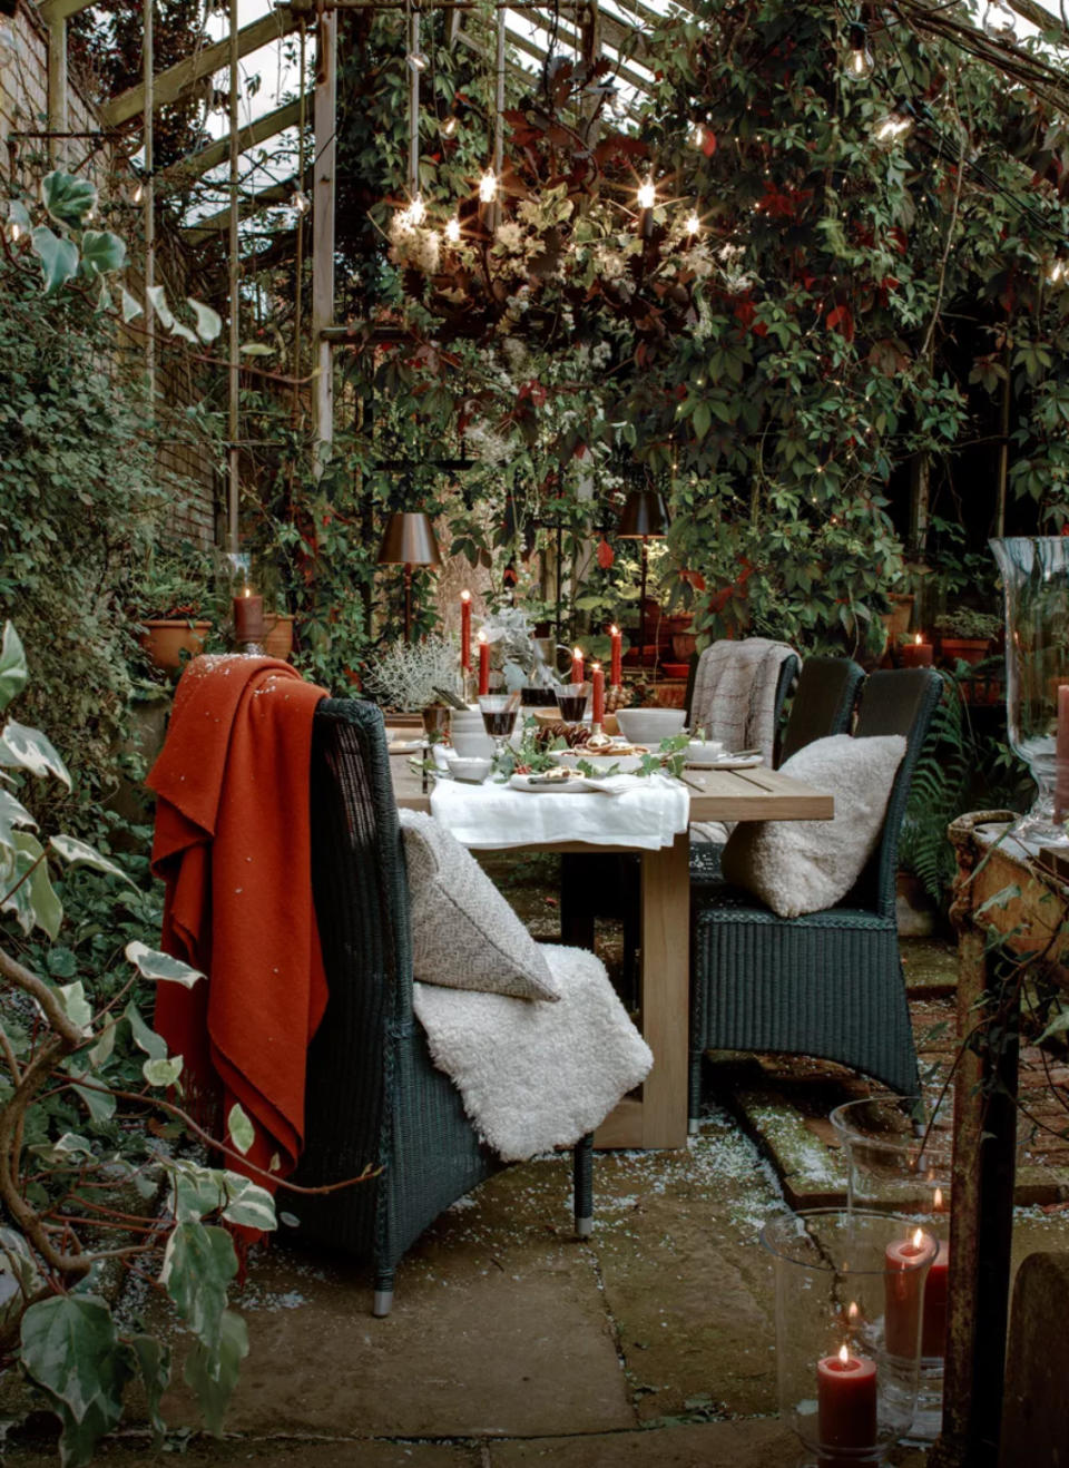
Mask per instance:
[[[131,1355],[95,1295],[53,1295],[22,1317],[21,1359],[63,1424],[63,1468],[82,1468],[122,1417]]]

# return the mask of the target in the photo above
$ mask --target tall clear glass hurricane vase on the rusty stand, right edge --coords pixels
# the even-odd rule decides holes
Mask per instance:
[[[1037,785],[1013,835],[1029,846],[1069,844],[1069,759],[1059,769],[1057,757],[1059,690],[1069,687],[1069,539],[1012,536],[990,545],[1006,596],[1009,743]]]

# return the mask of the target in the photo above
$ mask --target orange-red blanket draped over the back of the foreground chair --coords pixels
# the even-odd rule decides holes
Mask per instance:
[[[195,658],[148,777],[163,947],[207,975],[159,985],[156,1028],[185,1057],[194,1110],[217,1126],[222,1102],[225,1126],[241,1102],[256,1127],[248,1161],[279,1177],[301,1154],[308,1041],[326,1007],[308,810],[323,697],[272,658]]]

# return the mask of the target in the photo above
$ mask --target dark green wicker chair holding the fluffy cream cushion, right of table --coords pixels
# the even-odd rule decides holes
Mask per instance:
[[[899,831],[943,684],[930,668],[874,672],[856,737],[905,734],[884,832],[853,891],[827,912],[777,918],[725,882],[696,894],[690,950],[690,1126],[706,1050],[818,1055],[903,1095],[916,1050],[894,916]]]

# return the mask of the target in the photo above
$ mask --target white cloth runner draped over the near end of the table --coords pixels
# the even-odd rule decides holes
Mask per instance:
[[[439,780],[430,793],[430,813],[463,846],[476,850],[552,841],[633,846],[640,851],[671,846],[687,829],[686,785],[661,775],[621,778],[628,784],[615,796],[534,793],[493,781],[467,785]]]

